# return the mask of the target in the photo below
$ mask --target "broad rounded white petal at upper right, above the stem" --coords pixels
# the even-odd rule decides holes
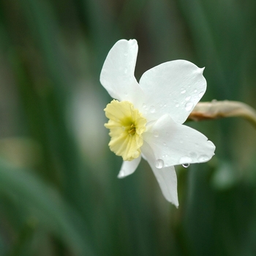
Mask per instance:
[[[142,113],[156,120],[169,113],[174,121],[183,124],[206,91],[203,69],[189,61],[168,61],[149,69],[140,78],[145,94]]]

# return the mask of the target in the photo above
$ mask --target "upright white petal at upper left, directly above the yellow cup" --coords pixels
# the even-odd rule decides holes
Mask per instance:
[[[142,91],[135,79],[138,43],[121,39],[110,49],[100,74],[100,83],[114,99],[136,102]]]

